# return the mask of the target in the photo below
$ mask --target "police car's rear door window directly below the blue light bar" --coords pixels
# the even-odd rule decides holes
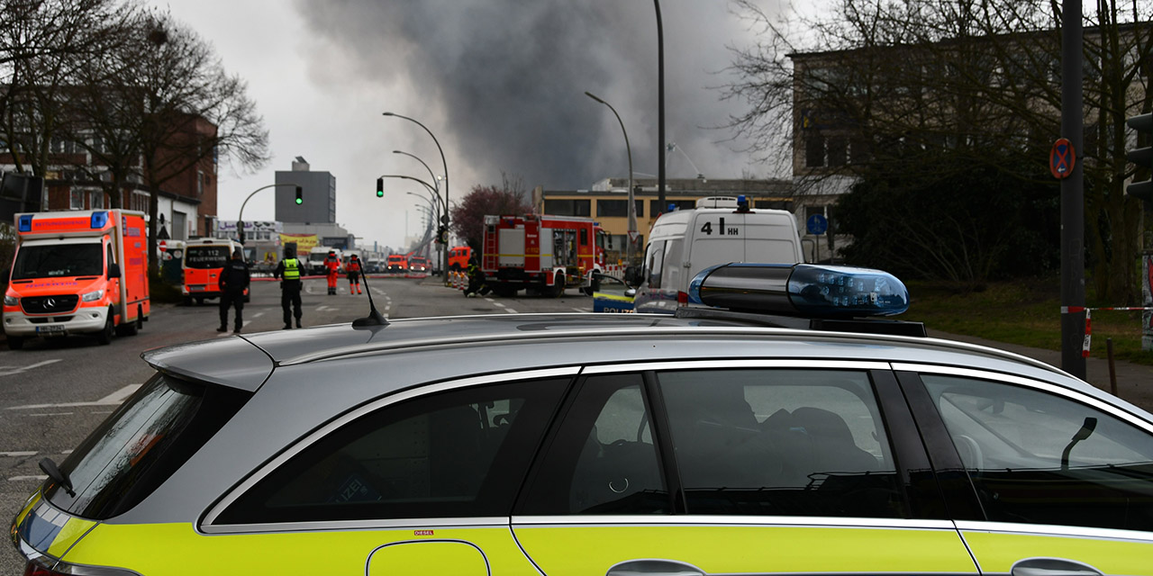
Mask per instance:
[[[866,372],[657,378],[689,514],[907,516]]]

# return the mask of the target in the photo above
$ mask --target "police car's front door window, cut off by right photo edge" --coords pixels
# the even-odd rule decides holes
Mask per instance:
[[[1153,434],[1023,386],[921,379],[988,520],[1153,531]]]

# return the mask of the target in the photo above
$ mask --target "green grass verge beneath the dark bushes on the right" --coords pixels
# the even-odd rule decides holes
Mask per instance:
[[[985,338],[1033,348],[1061,350],[1061,281],[1057,276],[989,283],[981,291],[910,282],[912,303],[902,320],[922,321],[951,334]],[[1092,296],[1087,296],[1093,305]],[[1094,358],[1106,358],[1113,339],[1118,361],[1153,365],[1153,351],[1141,350],[1141,313],[1094,311]]]

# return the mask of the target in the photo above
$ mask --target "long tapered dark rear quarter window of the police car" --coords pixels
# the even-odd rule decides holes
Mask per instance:
[[[386,406],[278,467],[216,524],[507,516],[565,379]]]

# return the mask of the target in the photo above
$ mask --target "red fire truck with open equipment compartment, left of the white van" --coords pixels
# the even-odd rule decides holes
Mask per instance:
[[[484,217],[481,270],[498,296],[536,290],[559,297],[588,285],[604,266],[608,236],[589,218],[548,214]]]

